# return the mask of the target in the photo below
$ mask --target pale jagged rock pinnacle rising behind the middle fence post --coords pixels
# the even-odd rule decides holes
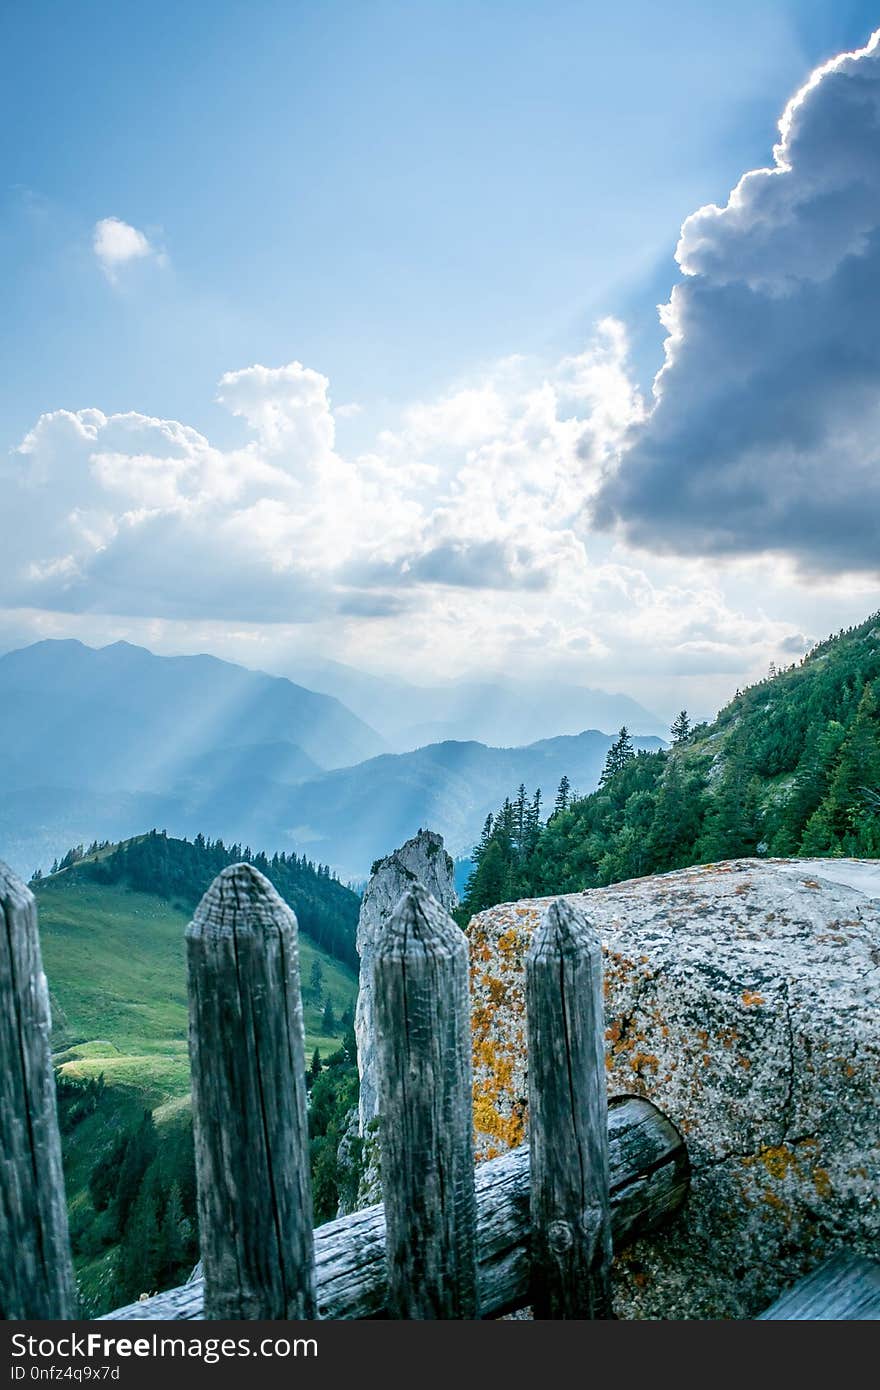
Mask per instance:
[[[448,912],[457,903],[453,863],[443,849],[443,837],[420,830],[405,845],[373,865],[357,922],[360,988],[355,1034],[360,1070],[360,1133],[368,1134],[377,1113],[375,1061],[373,1045],[373,956],[375,933],[413,883],[421,883]]]

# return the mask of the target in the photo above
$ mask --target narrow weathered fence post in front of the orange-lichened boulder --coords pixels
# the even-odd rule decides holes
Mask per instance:
[[[525,956],[525,1008],[535,1318],[610,1318],[602,947],[564,898]]]

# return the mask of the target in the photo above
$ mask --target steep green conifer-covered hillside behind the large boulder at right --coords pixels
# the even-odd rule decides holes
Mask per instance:
[[[738,855],[880,855],[880,614],[737,691],[673,746],[626,733],[598,791],[559,788],[541,823],[525,788],[489,817],[460,916]]]

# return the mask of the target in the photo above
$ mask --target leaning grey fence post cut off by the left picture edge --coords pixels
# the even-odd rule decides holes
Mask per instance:
[[[36,902],[0,863],[0,1318],[75,1318]]]

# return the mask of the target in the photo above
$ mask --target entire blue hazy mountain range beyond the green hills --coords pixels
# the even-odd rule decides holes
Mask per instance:
[[[488,688],[485,699],[491,719]],[[43,641],[0,657],[0,856],[29,874],[78,842],[156,826],[304,851],[361,878],[420,826],[467,853],[520,783],[545,801],[563,776],[591,791],[609,745],[587,730],[391,753],[339,699],[284,677],[125,642]]]

